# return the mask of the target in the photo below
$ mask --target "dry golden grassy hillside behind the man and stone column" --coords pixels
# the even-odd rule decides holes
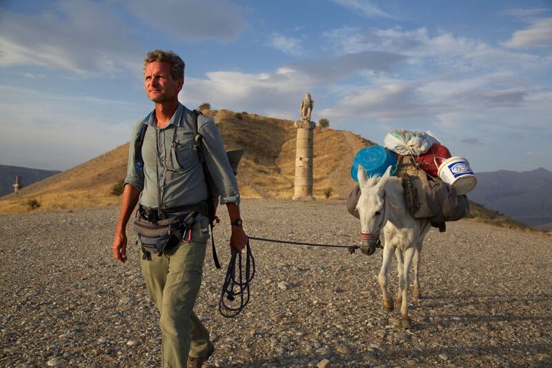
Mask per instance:
[[[205,111],[215,119],[227,150],[246,151],[238,168],[238,182],[244,197],[290,198],[295,173],[295,135],[293,121],[229,110]],[[343,197],[352,180],[349,175],[353,156],[373,144],[353,133],[315,129],[315,196]],[[120,197],[110,194],[126,175],[128,144],[95,157],[46,180],[23,188],[19,195],[0,200],[0,213],[30,211],[28,200],[41,203],[38,211],[72,209],[82,206],[118,204]]]

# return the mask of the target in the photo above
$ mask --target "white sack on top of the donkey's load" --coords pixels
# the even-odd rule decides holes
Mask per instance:
[[[425,132],[403,129],[392,130],[384,139],[385,147],[394,153],[414,156],[423,155],[435,142],[437,139]]]

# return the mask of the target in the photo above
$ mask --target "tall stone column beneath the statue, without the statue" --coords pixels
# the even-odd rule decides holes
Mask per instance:
[[[295,122],[297,151],[295,153],[294,200],[315,200],[313,196],[313,129],[314,122]]]

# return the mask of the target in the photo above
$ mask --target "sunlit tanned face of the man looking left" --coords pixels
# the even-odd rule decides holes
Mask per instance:
[[[177,99],[182,86],[184,78],[175,80],[170,74],[170,64],[164,61],[152,61],[144,68],[146,95],[154,102]]]

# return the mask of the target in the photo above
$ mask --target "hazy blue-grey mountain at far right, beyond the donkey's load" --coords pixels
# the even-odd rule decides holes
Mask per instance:
[[[494,171],[475,173],[477,186],[468,194],[483,204],[535,229],[552,231],[552,172]]]

